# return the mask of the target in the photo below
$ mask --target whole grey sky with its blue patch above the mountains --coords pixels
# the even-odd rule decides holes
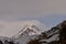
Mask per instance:
[[[0,0],[0,23],[26,20],[51,29],[66,20],[66,0]]]

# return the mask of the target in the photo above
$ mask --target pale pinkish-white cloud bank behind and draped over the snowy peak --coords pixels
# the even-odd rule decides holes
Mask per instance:
[[[18,34],[23,28],[31,26],[31,24],[37,25],[37,28],[42,28],[46,30],[46,26],[36,20],[28,20],[28,21],[2,21],[0,22],[0,36],[12,37]],[[9,32],[8,32],[9,31]]]

